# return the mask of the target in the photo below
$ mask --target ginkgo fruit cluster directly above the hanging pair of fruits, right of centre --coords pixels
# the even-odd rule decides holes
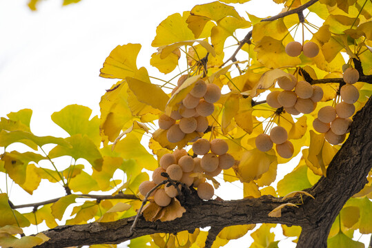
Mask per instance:
[[[321,87],[306,81],[297,81],[292,74],[281,76],[277,79],[277,84],[283,91],[271,92],[266,97],[266,102],[271,107],[284,107],[289,114],[310,114],[323,98]]]

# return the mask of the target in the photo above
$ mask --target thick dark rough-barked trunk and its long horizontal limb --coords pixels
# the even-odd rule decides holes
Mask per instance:
[[[300,197],[286,200],[273,196],[242,200],[202,201],[188,196],[182,218],[172,221],[147,222],[143,217],[130,234],[134,217],[112,223],[66,225],[43,231],[50,238],[39,247],[70,247],[92,244],[117,244],[155,233],[194,231],[198,227],[221,229],[231,225],[253,223],[280,223],[299,225],[302,233],[297,247],[326,247],[326,240],[337,214],[346,201],[366,184],[366,176],[372,167],[372,100],[355,114],[351,134],[327,169],[327,177],[310,189],[304,189],[315,199],[303,196],[299,208],[285,207],[282,216],[272,218],[268,213],[282,203],[301,203]],[[213,236],[213,234],[211,234]]]

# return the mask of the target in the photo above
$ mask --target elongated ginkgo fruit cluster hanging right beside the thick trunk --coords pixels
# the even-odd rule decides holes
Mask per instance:
[[[359,72],[354,68],[348,68],[344,72],[344,82],[340,89],[342,101],[335,107],[322,107],[313,121],[314,130],[324,133],[324,138],[332,145],[344,142],[346,134],[350,132],[351,116],[355,112],[355,103],[359,98],[358,89],[353,85],[359,79]]]

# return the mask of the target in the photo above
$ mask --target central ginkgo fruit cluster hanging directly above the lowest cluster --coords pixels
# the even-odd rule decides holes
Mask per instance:
[[[188,75],[179,78],[177,87],[186,81]],[[179,103],[178,110],[171,112],[170,116],[162,114],[159,117],[159,127],[168,130],[166,137],[170,143],[182,141],[186,134],[205,132],[208,128],[207,116],[213,114],[215,105],[221,96],[221,90],[213,83],[199,80],[193,89]]]

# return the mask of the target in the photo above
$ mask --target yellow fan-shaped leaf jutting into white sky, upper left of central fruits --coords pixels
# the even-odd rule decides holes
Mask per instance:
[[[110,52],[99,76],[108,79],[125,79],[127,76],[133,76],[137,71],[136,60],[139,50],[140,44],[118,45]]]

